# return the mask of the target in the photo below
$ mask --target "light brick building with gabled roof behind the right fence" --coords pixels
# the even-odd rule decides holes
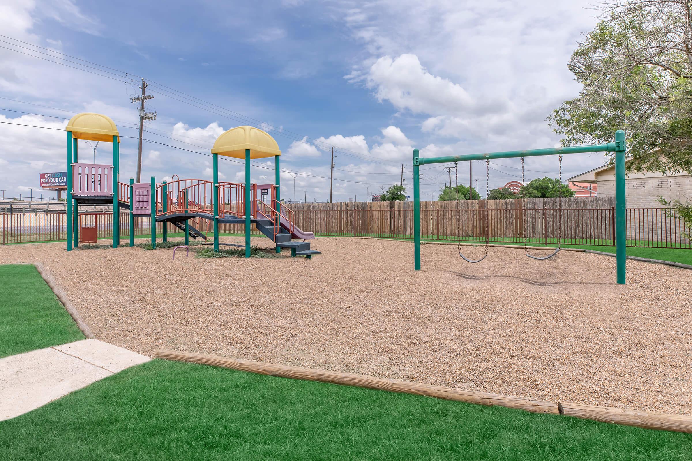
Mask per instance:
[[[594,184],[599,197],[615,196],[615,167],[603,165],[569,178],[570,183]],[[692,176],[687,173],[664,174],[658,171],[628,173],[625,179],[628,208],[660,208],[658,196],[668,200],[692,197]]]

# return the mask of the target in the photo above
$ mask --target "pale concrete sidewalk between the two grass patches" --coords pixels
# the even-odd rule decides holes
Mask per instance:
[[[98,339],[4,357],[0,359],[0,421],[149,360]]]

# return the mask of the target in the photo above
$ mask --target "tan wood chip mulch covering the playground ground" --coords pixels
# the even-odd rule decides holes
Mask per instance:
[[[222,238],[242,243],[242,238]],[[126,243],[122,241],[122,243]],[[253,245],[267,246],[265,238]],[[692,415],[692,272],[561,252],[318,238],[311,260],[185,258],[172,249],[5,245],[41,262],[97,339],[441,384],[529,399]],[[477,258],[482,247],[464,247]],[[283,255],[283,254],[282,254]]]

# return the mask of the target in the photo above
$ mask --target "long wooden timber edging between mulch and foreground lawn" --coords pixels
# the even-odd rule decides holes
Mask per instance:
[[[194,352],[157,350],[154,357],[174,361],[185,361],[192,364],[232,368],[233,370],[259,373],[260,375],[304,379],[306,381],[341,384],[344,386],[358,386],[376,389],[378,391],[424,395],[426,397],[436,397],[438,399],[455,400],[457,402],[471,404],[498,405],[530,411],[531,413],[573,416],[585,420],[625,424],[627,426],[637,426],[644,429],[692,433],[692,416],[688,415],[664,415],[639,410],[622,410],[607,406],[572,404],[567,402],[545,402],[478,391],[465,391],[464,389],[446,386],[356,375],[354,373],[339,373],[337,371],[316,370],[314,368],[302,368],[300,366],[267,364],[259,361],[241,359],[226,359],[215,355],[196,354]]]

